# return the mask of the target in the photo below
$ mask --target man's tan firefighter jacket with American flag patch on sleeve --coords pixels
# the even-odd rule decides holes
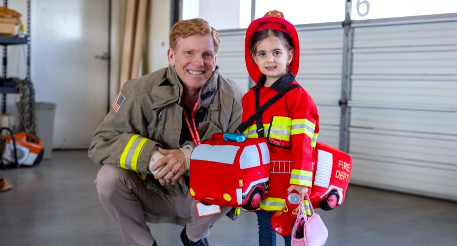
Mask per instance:
[[[243,93],[237,83],[222,77],[216,67],[199,94],[199,108],[207,108],[198,126],[202,141],[214,133],[235,132],[240,125]],[[89,157],[100,165],[111,163],[138,172],[154,191],[185,195],[186,185],[161,186],[152,175],[146,175],[152,150],[158,146],[183,147],[179,144],[181,128],[187,125],[182,125],[182,94],[183,87],[173,66],[127,81],[95,131]],[[194,147],[191,141],[184,145]]]

